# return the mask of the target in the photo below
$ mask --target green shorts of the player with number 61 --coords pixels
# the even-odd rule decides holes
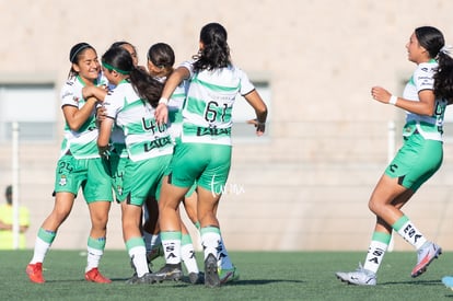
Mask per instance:
[[[231,166],[231,146],[208,143],[177,143],[172,163],[165,174],[178,187],[197,185],[221,194]]]

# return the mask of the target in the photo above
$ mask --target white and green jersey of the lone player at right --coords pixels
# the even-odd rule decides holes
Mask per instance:
[[[405,100],[419,102],[418,93],[422,90],[434,90],[433,76],[437,72],[438,62],[431,60],[418,65],[413,77],[406,84],[403,97]],[[416,129],[425,139],[442,141],[443,118],[448,102],[435,100],[434,114],[432,116],[418,115],[406,112],[406,124],[404,136],[411,135]],[[410,126],[415,125],[415,126]]]

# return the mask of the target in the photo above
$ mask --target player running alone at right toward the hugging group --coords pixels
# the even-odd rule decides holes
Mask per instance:
[[[453,101],[452,66],[442,33],[431,26],[415,30],[406,44],[408,59],[417,68],[403,92],[403,97],[373,86],[374,100],[406,111],[404,144],[378,182],[369,208],[376,216],[364,266],[351,273],[336,273],[341,281],[360,286],[376,285],[376,273],[391,241],[397,232],[417,250],[417,264],[410,273],[418,277],[442,250],[429,241],[402,211],[411,196],[441,166],[442,125],[446,105]]]

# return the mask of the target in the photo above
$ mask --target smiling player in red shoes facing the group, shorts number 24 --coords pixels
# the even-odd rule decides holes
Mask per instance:
[[[61,155],[57,163],[55,204],[37,233],[33,258],[26,267],[32,282],[43,283],[43,262],[57,231],[71,212],[80,188],[86,200],[91,232],[88,239],[85,279],[109,283],[97,269],[104,254],[108,211],[113,200],[111,176],[96,147],[97,127],[95,106],[97,100],[82,95],[84,86],[105,86],[95,49],[88,43],[74,45],[69,54],[71,69],[61,89],[61,108],[66,126]],[[102,101],[101,101],[102,102]]]

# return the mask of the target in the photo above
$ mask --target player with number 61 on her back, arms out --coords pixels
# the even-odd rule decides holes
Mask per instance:
[[[183,130],[159,199],[160,227],[166,265],[181,266],[182,232],[179,202],[197,183],[197,216],[205,257],[205,286],[220,286],[218,274],[221,231],[217,207],[231,165],[231,112],[242,94],[256,113],[257,136],[265,131],[267,107],[245,72],[232,65],[226,31],[219,23],[201,28],[199,51],[172,72],[161,102],[169,102],[175,89],[188,80],[183,106]],[[167,120],[167,108],[156,109],[159,121]],[[160,273],[156,273],[160,275]]]

